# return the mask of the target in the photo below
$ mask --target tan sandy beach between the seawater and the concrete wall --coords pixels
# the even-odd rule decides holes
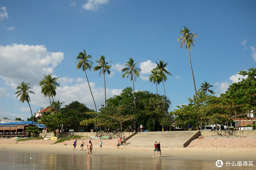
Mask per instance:
[[[0,151],[86,155],[86,146],[83,151],[80,150],[82,140],[85,145],[89,141],[87,137],[78,139],[76,151],[73,151],[74,140],[53,144],[56,140],[40,139],[17,142],[15,139],[0,138]],[[120,149],[116,149],[117,139],[107,139],[102,140],[102,149],[99,149],[100,139],[91,139],[91,141],[93,156],[153,158],[153,144],[152,147],[120,146]],[[216,161],[221,157],[222,160],[232,158],[234,161],[239,161],[250,158],[251,161],[256,161],[254,158],[256,137],[199,137],[185,148],[161,147],[161,151],[163,156],[161,159]]]

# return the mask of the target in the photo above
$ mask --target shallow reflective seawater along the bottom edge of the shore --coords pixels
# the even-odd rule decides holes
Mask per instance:
[[[29,157],[32,157],[30,159]],[[64,154],[1,152],[0,169],[218,169],[212,161],[172,160],[161,158],[127,158]],[[221,169],[254,169],[253,167],[221,167]]]

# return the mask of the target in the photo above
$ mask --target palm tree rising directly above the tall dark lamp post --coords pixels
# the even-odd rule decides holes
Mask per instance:
[[[124,72],[124,74],[122,75],[122,78],[124,78],[125,76],[126,76],[126,78],[129,78],[129,76],[131,77],[131,81],[133,84],[133,97],[135,97],[134,82],[136,82],[136,77],[139,77],[140,71],[141,71],[140,68],[136,68],[136,64],[138,64],[138,63],[139,63],[139,61],[137,63],[134,63],[133,58],[129,58],[129,60],[126,61],[126,63],[124,64],[127,67],[125,67],[121,70],[122,73]],[[135,105],[135,100],[134,100],[134,105]]]

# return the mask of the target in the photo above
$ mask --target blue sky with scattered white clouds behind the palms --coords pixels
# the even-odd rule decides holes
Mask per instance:
[[[130,57],[141,68],[135,90],[156,93],[148,80],[155,61],[168,62],[172,74],[165,82],[166,96],[177,105],[194,94],[188,51],[177,42],[187,26],[198,35],[191,62],[199,89],[209,82],[216,96],[237,82],[237,73],[255,66],[256,1],[1,1],[0,3],[0,118],[27,119],[31,113],[14,92],[20,82],[30,82],[32,112],[47,107],[38,85],[44,75],[60,77],[55,100],[79,101],[94,109],[76,56],[86,50],[91,61],[106,56],[111,75],[106,76],[107,98],[120,94],[129,79],[121,69]],[[104,104],[104,80],[87,71],[97,109]],[[158,93],[164,94],[163,83]]]

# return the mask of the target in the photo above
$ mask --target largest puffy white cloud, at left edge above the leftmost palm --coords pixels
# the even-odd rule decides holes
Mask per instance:
[[[16,88],[20,82],[38,84],[64,59],[62,52],[48,52],[44,45],[12,44],[0,46],[0,78]],[[11,67],[10,67],[11,66]]]

